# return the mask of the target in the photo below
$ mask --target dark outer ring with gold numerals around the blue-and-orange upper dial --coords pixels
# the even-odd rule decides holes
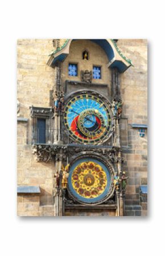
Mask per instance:
[[[96,136],[96,137],[93,137],[93,139],[88,139],[88,137],[84,138],[85,136],[81,132],[84,132],[84,133],[86,132],[86,134],[88,134],[87,133],[88,131],[85,129],[85,127],[80,127],[80,130],[79,130],[80,132],[76,131],[77,132],[77,134],[76,134],[76,132],[75,133],[73,132],[74,131],[73,126],[71,126],[71,124],[68,123],[68,115],[71,114],[71,111],[69,112],[69,109],[72,107],[72,104],[75,104],[76,101],[81,100],[81,99],[89,99],[89,100],[95,101],[97,104],[102,105],[101,108],[106,113],[106,120],[105,120],[107,122],[106,127],[104,127],[104,122],[102,121],[102,120],[104,120],[104,118],[102,118],[103,116],[101,116],[101,113],[99,113],[99,111],[98,111],[98,113],[96,113],[98,120],[101,120],[102,122],[101,122],[100,128],[97,132],[91,132],[92,137]],[[92,91],[92,90],[79,90],[79,91],[73,92],[73,93],[69,94],[67,97],[65,97],[64,102],[65,102],[64,127],[65,127],[65,129],[67,129],[67,132],[69,133],[69,138],[71,138],[72,141],[75,141],[76,143],[80,143],[80,144],[84,144],[84,145],[86,145],[86,144],[87,145],[99,145],[99,144],[105,143],[105,141],[110,139],[110,137],[112,136],[112,127],[113,127],[113,117],[112,116],[113,115],[112,115],[110,101],[108,99],[106,99],[105,96],[99,94],[96,91]],[[71,106],[71,107],[69,107],[69,106]],[[89,111],[90,116],[92,115],[91,108],[85,109],[84,111],[86,111],[86,113],[88,113],[88,111]],[[97,111],[97,109],[96,109],[96,111]],[[83,117],[82,117],[83,111],[81,113],[79,113],[79,115],[77,115],[77,117],[80,117],[79,120],[83,119]],[[95,114],[93,114],[93,115],[95,116]],[[89,118],[87,118],[87,117],[84,117],[84,118],[86,118],[87,122],[88,122]],[[79,122],[79,123],[81,123],[81,122]],[[101,131],[102,131],[102,134],[101,134]],[[98,135],[100,135],[100,136],[98,136]]]

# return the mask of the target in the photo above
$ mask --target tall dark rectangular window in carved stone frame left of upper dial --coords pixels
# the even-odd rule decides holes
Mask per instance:
[[[37,119],[37,142],[46,143],[46,119]]]

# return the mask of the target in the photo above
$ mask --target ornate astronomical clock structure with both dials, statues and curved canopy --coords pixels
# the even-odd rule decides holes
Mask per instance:
[[[42,139],[34,153],[39,161],[55,162],[55,216],[75,209],[101,210],[102,214],[109,209],[123,216],[126,177],[122,172],[119,76],[131,63],[119,54],[115,40],[62,42],[53,40],[56,50],[47,63],[55,70],[52,108],[31,108],[31,114],[39,117]]]

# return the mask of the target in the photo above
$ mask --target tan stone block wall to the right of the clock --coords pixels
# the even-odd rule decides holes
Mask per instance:
[[[126,205],[129,205],[129,208],[126,208],[126,214],[138,215],[141,213],[136,213],[134,207],[137,206],[138,211],[141,208],[138,207],[141,206],[139,186],[147,185],[147,129],[145,136],[141,137],[139,129],[133,128],[131,124],[147,124],[147,40],[125,39],[118,40],[117,44],[134,65],[121,74],[121,96],[124,101],[122,116],[128,123],[129,148],[123,151],[123,168],[129,176],[126,191]],[[146,214],[142,207],[142,215]]]

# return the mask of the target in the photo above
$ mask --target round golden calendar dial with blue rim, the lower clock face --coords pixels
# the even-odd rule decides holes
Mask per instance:
[[[68,188],[72,196],[85,204],[104,200],[112,185],[112,173],[100,160],[84,157],[69,170]]]

